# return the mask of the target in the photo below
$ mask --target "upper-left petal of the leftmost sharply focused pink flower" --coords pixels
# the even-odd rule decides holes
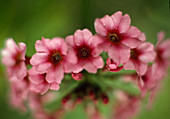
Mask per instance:
[[[50,42],[50,41],[49,41]],[[35,49],[39,53],[49,53],[49,49],[45,46],[43,41],[37,40],[35,43]]]

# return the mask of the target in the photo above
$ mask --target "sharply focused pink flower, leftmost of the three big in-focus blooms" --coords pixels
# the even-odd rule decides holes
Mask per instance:
[[[72,63],[75,63],[75,55],[68,51],[68,46],[62,38],[38,40],[35,44],[37,53],[34,54],[30,63],[35,67],[36,72],[46,73],[48,83],[60,84],[64,72],[72,71]]]

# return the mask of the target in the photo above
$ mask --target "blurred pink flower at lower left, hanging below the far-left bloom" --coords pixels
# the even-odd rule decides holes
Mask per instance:
[[[23,80],[18,80],[16,77],[10,79],[11,91],[10,91],[10,103],[23,111],[26,111],[25,101],[28,96],[28,81],[27,77]]]

